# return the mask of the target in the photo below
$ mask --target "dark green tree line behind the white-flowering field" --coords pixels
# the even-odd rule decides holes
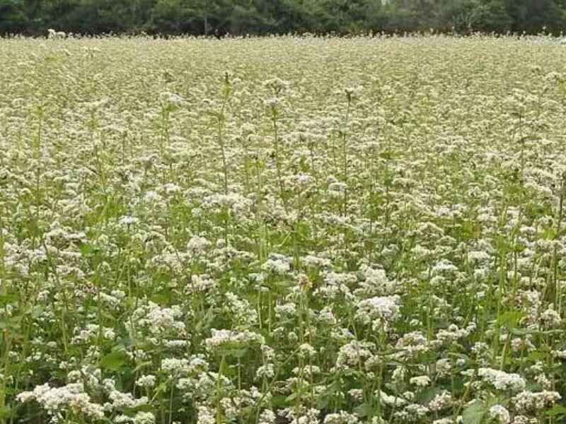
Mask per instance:
[[[0,33],[553,33],[566,0],[0,0]]]

